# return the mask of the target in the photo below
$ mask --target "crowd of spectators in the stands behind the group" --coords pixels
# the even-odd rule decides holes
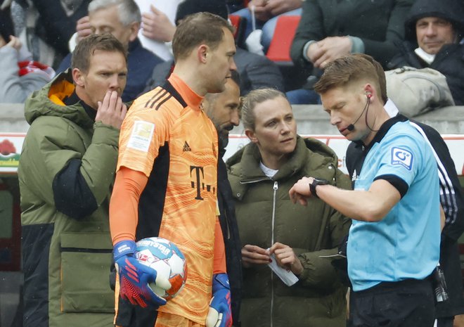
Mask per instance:
[[[94,2],[96,4],[89,7],[90,0],[4,0],[1,15],[5,19],[2,19],[1,28],[6,31],[6,26],[13,26],[4,39],[8,43],[9,34],[18,37],[22,49],[32,53],[32,60],[37,65],[62,72],[69,67],[70,52],[80,39],[92,33],[112,32],[127,44],[129,50],[129,79],[124,101],[134,100],[142,91],[162,84],[173,68],[171,42],[179,23],[176,11],[182,1],[136,0],[139,12],[129,8],[129,12],[134,11],[130,18],[121,6],[118,8],[122,17],[119,12],[108,13],[108,8],[103,8],[105,4],[117,4],[117,1]],[[205,2],[208,6],[217,3]],[[199,1],[200,6],[201,3]],[[234,20],[234,37],[238,45],[236,62],[242,77],[242,95],[253,89],[272,87],[286,92],[290,104],[320,103],[313,86],[324,66],[349,53],[366,53],[378,60],[385,70],[407,65],[441,72],[447,79],[455,104],[463,104],[462,1],[446,0],[443,6],[436,0],[389,0],[382,4],[375,1],[335,4],[316,0],[228,0],[226,4],[228,11],[223,17],[238,18]],[[186,6],[198,4],[183,4]],[[179,9],[182,15],[184,9],[182,6]],[[432,13],[430,17],[442,20],[448,25],[449,32],[442,35],[441,25],[433,23],[431,27],[422,27],[423,32],[417,30],[419,34],[416,33],[416,23],[427,17],[425,13]],[[108,16],[110,14],[115,16]],[[284,63],[266,58],[276,23],[282,15],[299,20],[296,32],[287,32],[288,37],[283,40],[287,43],[283,48],[290,49],[286,55],[288,61]],[[129,30],[129,26],[133,29],[130,35],[119,35],[121,31],[118,29]],[[285,26],[280,28],[285,29]],[[135,37],[137,33],[138,37]],[[424,46],[432,43],[437,45]],[[13,51],[8,52],[10,56],[13,54]],[[40,86],[39,81],[35,83]],[[27,87],[35,86],[28,84]],[[12,100],[0,97],[1,102]],[[22,101],[24,98],[18,102]]]

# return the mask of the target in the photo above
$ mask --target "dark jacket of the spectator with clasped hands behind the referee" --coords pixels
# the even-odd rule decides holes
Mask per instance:
[[[403,22],[412,4],[413,0],[305,0],[290,50],[293,63],[312,69],[303,56],[308,41],[349,35],[361,39],[364,53],[385,68],[395,54],[394,42],[404,39]]]

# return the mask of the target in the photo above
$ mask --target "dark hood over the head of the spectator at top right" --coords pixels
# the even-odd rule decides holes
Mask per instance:
[[[453,24],[454,30],[461,37],[464,34],[464,4],[462,0],[417,0],[411,6],[404,23],[405,39],[417,42],[415,23],[424,17],[439,17]],[[458,37],[460,39],[460,37]]]

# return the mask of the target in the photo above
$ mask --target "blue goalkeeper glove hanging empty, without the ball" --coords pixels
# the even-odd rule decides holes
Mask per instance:
[[[212,296],[206,327],[231,327],[231,286],[228,285],[227,274],[213,276]]]

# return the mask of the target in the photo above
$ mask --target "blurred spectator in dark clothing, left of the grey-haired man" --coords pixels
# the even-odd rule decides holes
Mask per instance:
[[[67,40],[72,36],[77,20],[86,14],[89,2],[13,0],[11,15],[15,35],[32,53],[33,60],[56,68],[69,53]]]

